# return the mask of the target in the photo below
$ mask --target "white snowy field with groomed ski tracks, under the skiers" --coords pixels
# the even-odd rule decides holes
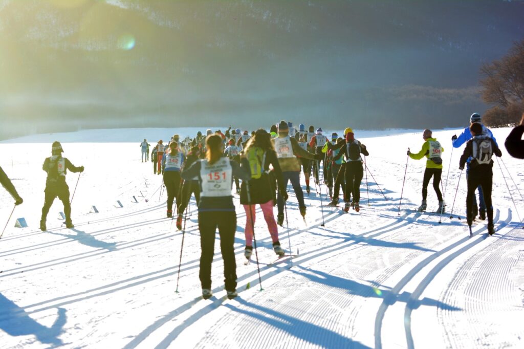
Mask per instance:
[[[291,190],[289,228],[279,227],[279,234],[282,247],[297,256],[278,263],[257,215],[261,286],[256,264],[243,263],[245,213],[235,195],[235,300],[225,297],[218,244],[214,296],[201,298],[193,199],[175,292],[182,232],[166,218],[166,194],[158,190],[161,176],[152,173],[151,162],[140,161],[138,145],[144,138],[154,145],[154,138],[168,140],[174,133],[183,138],[188,132],[196,129],[84,130],[0,143],[0,165],[25,200],[0,241],[0,347],[524,347],[524,230],[519,223],[524,201],[505,168],[524,192],[524,164],[504,149],[509,129],[494,130],[505,165],[500,163],[501,171],[495,160],[497,232],[490,237],[487,222],[478,221],[469,237],[465,176],[454,207],[462,220],[450,219],[463,151],[452,152],[450,139],[461,130],[433,133],[445,148],[448,212],[442,224],[438,215],[410,211],[421,201],[425,160],[409,160],[398,213],[406,150],[420,149],[422,132],[355,130],[368,147],[374,176],[367,172],[369,194],[363,180],[361,212],[322,209],[329,199],[326,188],[320,188],[320,196],[313,187],[305,198],[304,223]],[[41,166],[53,140],[62,141],[64,156],[85,166],[85,172],[72,203],[75,228],[62,226],[57,199],[48,215],[49,231],[43,233],[38,229],[46,179]],[[68,174],[71,193],[78,178]],[[0,190],[1,228],[13,202]],[[99,213],[90,213],[92,205]],[[428,211],[437,205],[430,184]],[[19,217],[28,227],[14,227]]]

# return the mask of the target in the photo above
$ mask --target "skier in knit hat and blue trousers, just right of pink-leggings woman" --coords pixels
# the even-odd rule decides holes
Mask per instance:
[[[314,159],[314,155],[310,152],[300,148],[297,140],[289,137],[288,124],[281,121],[278,125],[278,137],[272,139],[277,152],[278,162],[282,170],[282,177],[284,179],[284,187],[287,187],[288,181],[291,181],[291,186],[297,196],[300,214],[305,217],[305,203],[304,193],[300,186],[300,162],[297,155],[307,159]],[[284,200],[283,192],[279,190],[277,195],[278,215],[277,223],[282,225],[284,222]]]

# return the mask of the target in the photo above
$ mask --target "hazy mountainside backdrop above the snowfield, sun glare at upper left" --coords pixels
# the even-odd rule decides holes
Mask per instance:
[[[119,127],[458,127],[523,1],[0,1],[0,139]]]

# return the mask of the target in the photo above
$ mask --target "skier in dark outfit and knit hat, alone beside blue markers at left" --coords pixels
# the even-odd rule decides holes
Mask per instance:
[[[51,157],[43,161],[42,169],[47,172],[45,199],[42,207],[42,218],[40,220],[40,230],[42,232],[47,230],[46,220],[49,209],[53,204],[54,198],[58,197],[64,205],[65,226],[67,228],[74,228],[71,221],[71,204],[69,202],[69,187],[65,182],[65,175],[67,170],[73,173],[83,172],[84,167],[76,167],[67,158],[62,157],[62,145],[55,141],[51,148]]]

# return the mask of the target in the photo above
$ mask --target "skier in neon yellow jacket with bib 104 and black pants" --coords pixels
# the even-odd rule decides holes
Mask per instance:
[[[422,179],[422,203],[418,208],[419,212],[424,212],[428,206],[426,199],[428,198],[428,185],[431,177],[433,177],[433,189],[435,190],[436,197],[439,199],[439,209],[437,212],[444,212],[444,201],[442,199],[442,193],[440,191],[440,179],[442,177],[442,152],[444,148],[440,145],[436,138],[432,137],[430,129],[425,129],[422,138],[424,144],[422,149],[414,154],[408,149],[408,156],[414,160],[420,160],[424,156],[428,159],[426,161],[426,168],[424,171],[424,178]]]

